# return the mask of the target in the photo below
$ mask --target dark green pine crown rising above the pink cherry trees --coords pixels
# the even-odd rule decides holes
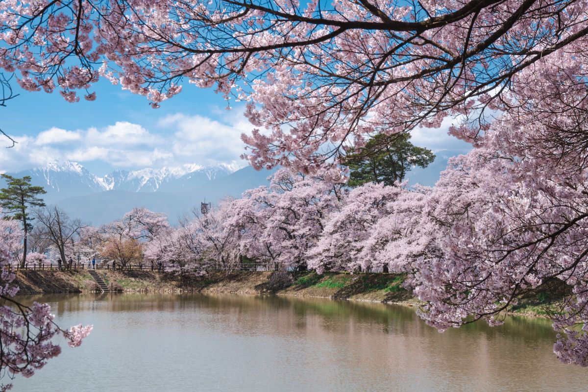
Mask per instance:
[[[427,167],[435,160],[429,149],[410,143],[410,135],[376,135],[358,152],[349,154],[345,165],[349,167],[349,185],[366,182],[394,185],[405,179],[414,166]]]

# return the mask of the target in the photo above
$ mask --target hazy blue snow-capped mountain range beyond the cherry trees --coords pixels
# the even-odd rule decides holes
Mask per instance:
[[[435,185],[447,160],[461,151],[442,150],[425,169],[408,173],[410,183]],[[45,202],[65,209],[92,225],[122,217],[133,207],[165,212],[172,223],[189,214],[201,202],[217,203],[224,197],[240,197],[247,189],[267,185],[274,170],[256,171],[251,166],[183,165],[162,169],[115,170],[96,176],[76,162],[52,162],[45,167],[22,170],[13,175],[31,176],[33,185],[47,191]],[[0,187],[5,184],[0,180]]]

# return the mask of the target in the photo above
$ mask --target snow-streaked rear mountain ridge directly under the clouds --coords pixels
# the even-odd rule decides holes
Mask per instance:
[[[46,202],[65,197],[90,195],[105,190],[130,192],[180,192],[195,189],[212,179],[235,172],[235,165],[182,165],[141,170],[115,170],[103,177],[96,176],[77,162],[51,162],[45,167],[22,170],[15,176],[31,176],[33,185],[44,187]]]

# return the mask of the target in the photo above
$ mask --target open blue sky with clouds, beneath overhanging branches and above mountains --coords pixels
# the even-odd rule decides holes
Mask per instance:
[[[15,86],[18,91],[17,86]],[[245,166],[242,132],[253,128],[242,105],[227,102],[212,89],[185,83],[183,91],[152,109],[143,96],[102,80],[97,98],[69,103],[59,93],[22,92],[0,108],[0,128],[18,140],[0,148],[0,172],[40,167],[52,160],[74,160],[96,175],[114,169],[227,163]],[[442,129],[416,130],[412,142],[433,150],[466,150]],[[0,146],[8,145],[0,139]]]

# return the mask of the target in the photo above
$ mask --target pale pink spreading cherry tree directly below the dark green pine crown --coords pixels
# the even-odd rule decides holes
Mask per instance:
[[[368,183],[356,187],[326,219],[318,244],[308,252],[309,267],[319,273],[410,270],[413,254],[401,253],[418,252],[411,239],[420,235],[409,233],[420,230],[424,196],[402,186]]]

